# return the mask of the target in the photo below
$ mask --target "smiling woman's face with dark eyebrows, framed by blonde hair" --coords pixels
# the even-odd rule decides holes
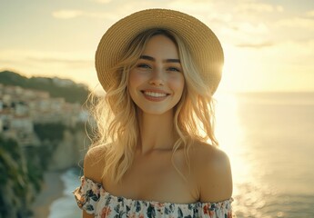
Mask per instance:
[[[143,113],[165,114],[173,110],[184,89],[177,46],[165,35],[149,39],[130,71],[128,92]]]

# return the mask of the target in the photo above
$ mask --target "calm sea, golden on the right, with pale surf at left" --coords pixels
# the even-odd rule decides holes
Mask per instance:
[[[233,211],[242,217],[314,217],[314,93],[216,97],[216,133],[230,159]],[[62,175],[64,196],[49,218],[80,217],[72,191],[79,172]]]

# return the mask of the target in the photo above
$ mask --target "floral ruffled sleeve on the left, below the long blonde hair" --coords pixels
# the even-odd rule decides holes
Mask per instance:
[[[76,203],[79,208],[85,210],[86,213],[95,214],[96,204],[100,198],[101,184],[94,183],[92,180],[81,177],[81,185],[73,192]]]

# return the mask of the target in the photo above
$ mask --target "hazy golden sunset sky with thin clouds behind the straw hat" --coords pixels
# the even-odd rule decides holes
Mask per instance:
[[[0,0],[0,71],[100,89],[94,56],[106,29],[156,7],[196,16],[218,35],[218,92],[314,91],[313,0]]]

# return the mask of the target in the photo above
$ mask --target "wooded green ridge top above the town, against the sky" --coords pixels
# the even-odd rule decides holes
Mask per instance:
[[[84,104],[89,93],[88,88],[82,84],[75,84],[70,80],[66,81],[68,84],[61,85],[55,82],[54,78],[45,77],[31,77],[26,78],[20,74],[10,71],[0,72],[0,83],[6,85],[16,85],[25,89],[35,89],[46,91],[51,97],[63,97],[68,103]]]

